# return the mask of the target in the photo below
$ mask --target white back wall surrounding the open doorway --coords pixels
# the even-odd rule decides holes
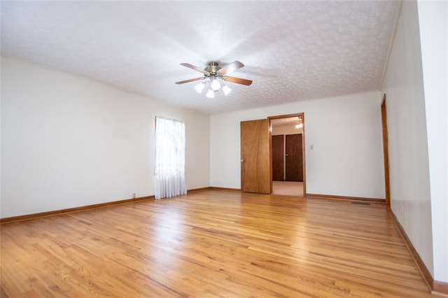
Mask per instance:
[[[241,187],[241,121],[304,113],[307,193],[384,199],[380,103],[366,92],[211,115],[211,186]]]

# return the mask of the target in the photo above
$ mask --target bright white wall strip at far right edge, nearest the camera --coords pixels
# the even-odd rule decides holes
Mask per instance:
[[[434,279],[448,283],[448,2],[419,1]]]

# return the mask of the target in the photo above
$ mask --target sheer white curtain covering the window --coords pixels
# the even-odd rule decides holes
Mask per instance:
[[[185,124],[155,118],[155,199],[187,194]]]

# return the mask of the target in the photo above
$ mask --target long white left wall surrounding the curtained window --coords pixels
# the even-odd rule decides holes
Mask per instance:
[[[209,115],[1,57],[1,218],[153,195],[156,115],[186,122],[187,187],[209,186]]]

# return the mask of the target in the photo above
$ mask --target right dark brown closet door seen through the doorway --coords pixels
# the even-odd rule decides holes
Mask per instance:
[[[285,180],[303,181],[302,134],[288,134],[285,139]]]

